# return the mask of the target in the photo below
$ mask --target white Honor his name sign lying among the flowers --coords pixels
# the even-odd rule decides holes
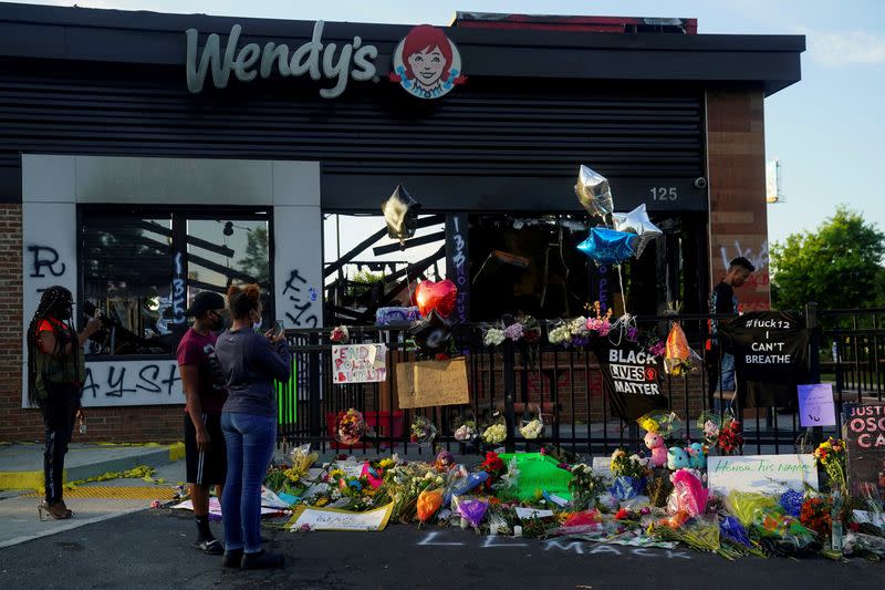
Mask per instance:
[[[780,495],[788,488],[818,489],[814,455],[746,455],[707,458],[708,487],[723,496],[732,489]]]

